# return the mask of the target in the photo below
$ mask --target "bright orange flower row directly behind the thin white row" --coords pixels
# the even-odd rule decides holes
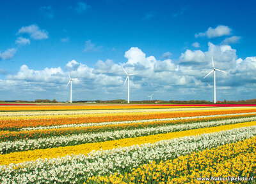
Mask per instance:
[[[120,122],[129,120],[148,120],[158,118],[177,118],[177,117],[195,117],[205,115],[222,115],[233,113],[252,113],[256,109],[239,109],[239,110],[212,110],[212,111],[173,111],[164,113],[143,113],[133,115],[124,113],[122,115],[106,115],[106,116],[86,116],[70,118],[68,115],[65,118],[39,118],[39,119],[22,119],[22,120],[0,120],[0,131],[19,131],[23,127],[38,127],[51,125],[66,125],[66,124],[86,124],[99,122]]]

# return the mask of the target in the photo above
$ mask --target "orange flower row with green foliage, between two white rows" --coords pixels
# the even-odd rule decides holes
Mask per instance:
[[[134,122],[130,124],[107,124],[99,126],[89,127],[68,127],[59,129],[42,129],[33,131],[2,131],[0,132],[0,142],[4,141],[19,141],[21,139],[39,139],[49,138],[52,136],[70,136],[74,134],[91,134],[97,132],[114,132],[121,130],[134,130],[134,129],[145,129],[148,127],[157,127],[163,125],[174,125],[174,124],[191,124],[195,122],[206,122],[214,120],[225,120],[228,118],[243,118],[243,117],[255,117],[251,115],[234,115],[228,117],[206,117],[206,118],[191,118],[183,120],[172,120],[172,121],[153,121],[153,122]]]

